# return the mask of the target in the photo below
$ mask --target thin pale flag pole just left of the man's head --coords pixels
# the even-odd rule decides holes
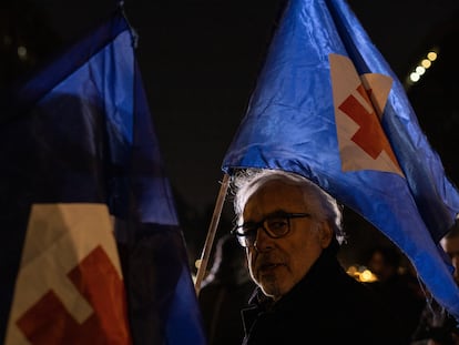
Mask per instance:
[[[204,278],[204,273],[207,268],[208,257],[211,256],[212,244],[215,239],[216,229],[218,226],[220,216],[222,214],[223,204],[225,203],[226,191],[230,185],[230,175],[224,174],[222,185],[220,187],[220,193],[217,201],[215,203],[214,214],[212,215],[211,224],[208,225],[207,237],[205,239],[204,248],[201,254],[201,264],[197,268],[196,281],[194,283],[194,290],[196,295],[200,295],[201,283]]]

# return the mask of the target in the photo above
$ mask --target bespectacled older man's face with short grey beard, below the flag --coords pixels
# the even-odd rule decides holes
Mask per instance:
[[[259,222],[277,212],[307,213],[310,210],[298,187],[271,181],[248,199],[243,217],[244,222]],[[298,283],[332,242],[332,229],[316,221],[314,215],[292,219],[289,223],[289,233],[280,239],[272,239],[258,229],[256,246],[246,250],[252,278],[274,300]]]

